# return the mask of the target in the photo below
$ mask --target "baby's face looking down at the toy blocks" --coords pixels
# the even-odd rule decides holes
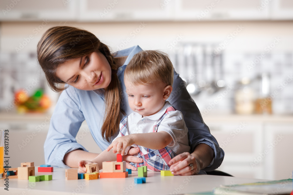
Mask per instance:
[[[143,117],[157,113],[165,104],[163,83],[134,85],[125,80],[130,108]]]

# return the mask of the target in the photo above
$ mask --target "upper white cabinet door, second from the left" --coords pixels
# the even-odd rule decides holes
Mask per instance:
[[[172,20],[174,2],[137,0],[84,0],[80,2],[80,21]]]

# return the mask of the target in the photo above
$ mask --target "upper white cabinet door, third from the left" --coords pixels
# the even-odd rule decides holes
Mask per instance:
[[[176,0],[176,20],[268,20],[261,0]]]

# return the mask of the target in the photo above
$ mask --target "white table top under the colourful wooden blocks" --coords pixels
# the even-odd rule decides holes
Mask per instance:
[[[54,172],[38,172],[35,175],[52,175],[53,180],[29,182],[28,180],[9,180],[9,191],[4,190],[4,180],[0,180],[0,194],[184,194],[211,191],[214,187],[264,180],[244,179],[237,177],[195,175],[166,176],[160,172],[147,172],[145,184],[134,184],[137,171],[132,171],[128,178],[102,178],[98,180],[65,180],[65,169],[54,168]]]

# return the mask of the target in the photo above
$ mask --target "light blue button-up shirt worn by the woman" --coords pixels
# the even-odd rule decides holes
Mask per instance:
[[[124,70],[130,59],[137,52],[142,51],[139,46],[133,46],[117,52],[117,56],[128,56],[124,65],[118,68],[118,79],[122,89],[123,110],[128,115],[130,109],[123,80]],[[52,166],[69,168],[63,163],[64,155],[76,149],[87,151],[76,142],[76,134],[81,123],[86,120],[93,139],[101,150],[105,150],[110,143],[105,141],[100,132],[105,114],[104,89],[84,91],[69,86],[60,95],[54,113],[51,117],[49,132],[44,144],[45,162]],[[202,120],[200,111],[186,90],[185,82],[174,71],[173,91],[167,99],[177,110],[181,111],[190,135],[191,151],[195,146],[204,143],[214,150],[212,163],[203,170],[218,168],[224,158],[224,151],[217,140],[211,135],[209,127]],[[111,138],[113,140],[117,133]]]

